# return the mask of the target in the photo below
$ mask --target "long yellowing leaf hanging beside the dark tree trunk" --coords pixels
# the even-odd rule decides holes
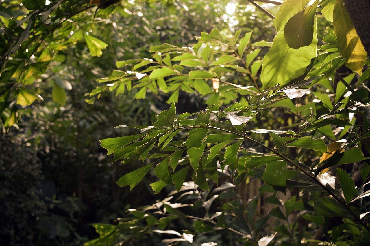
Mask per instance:
[[[343,5],[343,0],[336,0],[333,11],[334,32],[337,36],[338,51],[346,60],[346,65],[362,75],[367,53],[359,35],[354,29],[351,18]]]

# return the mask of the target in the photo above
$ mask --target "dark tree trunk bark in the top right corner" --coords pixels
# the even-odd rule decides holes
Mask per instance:
[[[354,28],[362,44],[370,55],[370,0],[343,0],[344,7],[349,13]]]

